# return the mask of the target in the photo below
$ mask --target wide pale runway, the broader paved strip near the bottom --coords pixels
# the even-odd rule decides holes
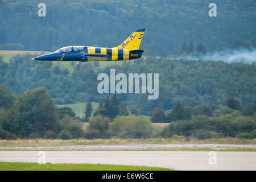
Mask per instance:
[[[34,162],[38,151],[0,151],[1,162]],[[46,151],[46,163],[92,163],[166,167],[176,170],[256,170],[256,152]],[[210,163],[209,163],[210,160]]]

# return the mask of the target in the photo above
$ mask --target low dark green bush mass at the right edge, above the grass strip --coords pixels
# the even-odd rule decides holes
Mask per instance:
[[[180,120],[170,123],[169,127],[163,130],[170,134],[183,135],[185,137],[195,135],[198,138],[235,137],[236,134],[251,132],[256,128],[253,117],[242,116],[238,110],[231,114],[220,115],[219,117],[208,117],[207,115],[195,115],[191,121]],[[209,133],[205,133],[205,132]],[[212,133],[212,132],[215,133]],[[163,133],[162,132],[162,133]]]

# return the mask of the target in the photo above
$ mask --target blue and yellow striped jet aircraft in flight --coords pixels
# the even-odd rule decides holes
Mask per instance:
[[[113,48],[68,46],[47,55],[32,58],[35,61],[119,61],[138,59],[144,52],[139,49],[145,28],[139,29],[122,44]]]

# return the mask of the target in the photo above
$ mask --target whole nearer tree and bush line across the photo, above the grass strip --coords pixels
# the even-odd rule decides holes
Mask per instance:
[[[82,130],[81,121],[75,117],[75,113],[69,107],[56,107],[46,89],[42,87],[26,90],[19,96],[14,96],[2,84],[0,103],[0,138],[2,139],[150,138],[174,135],[199,139],[256,137],[256,104],[247,104],[242,113],[239,101],[234,97],[230,97],[226,106],[214,113],[210,112],[209,106],[192,108],[189,117],[183,104],[177,102],[168,114],[173,120],[160,131],[155,131],[152,122],[163,122],[163,117],[166,119],[162,109],[156,108],[150,119],[139,115],[136,109],[131,110],[130,113],[127,109],[122,112],[123,104],[119,103],[115,95],[110,99],[106,97],[105,104],[98,106],[93,114],[94,117],[90,118],[86,115],[85,118],[89,121],[86,131]],[[89,113],[89,103],[85,113]],[[109,108],[112,110],[108,111]]]

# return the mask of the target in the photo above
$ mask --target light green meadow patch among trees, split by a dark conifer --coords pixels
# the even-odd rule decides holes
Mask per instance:
[[[98,105],[99,104],[97,102],[92,102],[92,107],[93,107],[92,113],[94,113],[94,111],[97,109]],[[80,111],[81,111],[82,118],[85,117],[84,111],[85,111],[86,102],[79,102],[79,103],[75,103],[75,104],[61,104],[61,105],[57,105],[57,106],[58,107],[70,107],[73,110],[73,112],[76,114],[76,117],[80,117]]]

